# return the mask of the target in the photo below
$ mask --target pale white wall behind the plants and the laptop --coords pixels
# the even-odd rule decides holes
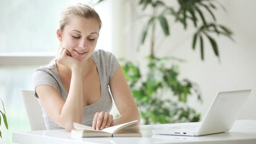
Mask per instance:
[[[166,0],[166,2],[168,5],[177,5],[176,0]],[[120,18],[122,19],[120,24],[125,26],[125,31],[114,29],[121,31],[114,37],[122,42],[114,44],[114,51],[116,50],[117,56],[139,61],[145,73],[144,57],[149,54],[149,45],[145,44],[139,52],[136,51],[136,44],[145,21],[139,20],[134,25],[128,24],[139,14],[141,8],[136,6],[137,3],[137,0],[133,0],[133,3],[125,4],[125,10],[129,9],[129,11],[123,13],[123,18]],[[195,32],[192,24],[184,32],[181,24],[173,24],[172,21],[168,21],[171,24],[171,37],[163,39],[161,29],[158,28],[157,37],[160,37],[160,40],[157,40],[156,55],[176,56],[187,60],[186,63],[180,64],[180,78],[189,78],[200,85],[203,104],[191,98],[189,105],[201,112],[202,117],[217,92],[250,88],[251,95],[238,118],[256,120],[254,110],[256,109],[256,17],[254,15],[256,1],[223,0],[221,3],[227,9],[227,13],[219,7],[218,11],[215,11],[217,22],[232,29],[235,33],[233,36],[235,43],[226,37],[215,37],[219,45],[220,61],[214,56],[208,41],[205,41],[205,61],[201,61],[199,47],[196,51],[192,51],[191,48],[192,34]],[[147,12],[150,13],[150,9],[147,9]],[[149,43],[148,39],[146,43]]]

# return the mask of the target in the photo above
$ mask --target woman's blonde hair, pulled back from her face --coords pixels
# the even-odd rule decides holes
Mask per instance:
[[[65,8],[62,13],[59,20],[59,28],[61,31],[64,31],[64,28],[67,24],[70,22],[71,16],[80,16],[87,19],[96,19],[99,21],[99,29],[101,29],[102,22],[99,17],[99,14],[89,5],[77,3],[74,5],[69,5],[67,8]],[[59,42],[58,50],[61,48],[62,43]],[[57,52],[58,53],[58,52]],[[56,60],[56,57],[53,59],[53,61]]]

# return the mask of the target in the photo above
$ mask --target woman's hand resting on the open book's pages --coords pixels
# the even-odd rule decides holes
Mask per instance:
[[[102,130],[114,125],[113,115],[107,112],[96,112],[93,118],[93,129]]]

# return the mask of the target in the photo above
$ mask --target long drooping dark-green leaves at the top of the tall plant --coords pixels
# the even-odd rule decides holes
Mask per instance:
[[[144,29],[141,32],[141,39],[139,40],[138,47],[144,43],[149,28],[151,27],[151,47],[150,47],[150,55],[154,56],[154,48],[155,48],[155,27],[157,21],[161,28],[163,29],[163,33],[165,36],[170,35],[170,28],[167,21],[168,16],[173,16],[176,23],[181,23],[184,26],[184,29],[187,29],[188,21],[192,21],[194,27],[197,29],[192,40],[192,48],[195,50],[197,40],[200,39],[200,53],[201,59],[204,60],[204,38],[206,37],[213,48],[213,51],[217,57],[219,57],[218,45],[216,41],[209,34],[217,34],[224,35],[231,40],[232,32],[227,27],[216,23],[216,16],[212,10],[216,10],[217,7],[215,3],[216,0],[177,0],[179,3],[179,8],[176,11],[175,8],[165,5],[161,0],[140,0],[139,5],[143,6],[143,10],[150,5],[153,9],[152,14],[145,15],[148,16],[148,21],[144,26]],[[220,4],[220,3],[218,3]],[[220,4],[221,5],[221,4]],[[223,5],[222,8],[225,10]],[[201,10],[204,8],[213,18],[213,21],[208,22],[205,19],[205,15]],[[161,10],[159,12],[159,9]],[[143,17],[141,17],[143,18]],[[201,21],[199,21],[201,19]],[[198,23],[202,23],[198,26]]]

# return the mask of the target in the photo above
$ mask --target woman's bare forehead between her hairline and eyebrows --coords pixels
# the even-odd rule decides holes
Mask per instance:
[[[80,32],[97,32],[99,33],[99,21],[93,18],[84,18],[80,16],[70,16],[69,24],[65,29],[78,30]]]

